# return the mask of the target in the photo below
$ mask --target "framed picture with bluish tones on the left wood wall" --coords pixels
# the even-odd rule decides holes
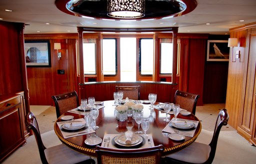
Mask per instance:
[[[50,67],[49,40],[25,41],[25,56],[28,67]]]

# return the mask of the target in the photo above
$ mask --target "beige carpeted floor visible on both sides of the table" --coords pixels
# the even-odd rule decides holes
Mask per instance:
[[[206,144],[210,142],[216,117],[221,108],[224,108],[224,104],[204,104],[196,107],[195,115],[202,123],[202,131],[196,141]],[[53,106],[31,106],[31,111],[36,113],[35,116],[45,146],[60,144],[61,142],[53,131],[53,124],[56,119],[55,108]],[[251,146],[231,126],[227,125],[221,128],[213,163],[254,163],[255,159],[255,146]],[[41,163],[34,136],[28,137],[26,144],[19,147],[2,163]]]

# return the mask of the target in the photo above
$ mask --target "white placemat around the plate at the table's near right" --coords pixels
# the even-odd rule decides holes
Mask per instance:
[[[192,137],[194,135],[195,129],[196,129],[198,123],[199,123],[199,121],[196,121],[196,120],[187,120],[187,119],[181,119],[181,118],[178,118],[178,120],[174,120],[175,122],[180,121],[180,122],[177,122],[177,123],[181,123],[181,121],[183,121],[182,124],[185,124],[185,121],[186,121],[186,123],[189,123],[189,124],[193,123],[194,124],[193,129],[191,129],[191,130],[187,130],[187,129],[182,130],[182,129],[173,128],[171,126],[171,121],[173,121],[173,120],[170,120],[170,122],[162,129],[163,132],[176,133],[174,130],[178,130],[178,131],[180,131],[180,133],[182,135],[186,135],[186,136],[190,136],[190,137]]]

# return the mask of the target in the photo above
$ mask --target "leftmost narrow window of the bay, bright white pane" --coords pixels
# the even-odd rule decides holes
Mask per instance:
[[[84,74],[96,74],[96,39],[84,39],[82,49]]]

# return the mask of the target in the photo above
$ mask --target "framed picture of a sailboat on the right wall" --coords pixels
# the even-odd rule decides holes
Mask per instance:
[[[229,47],[228,40],[208,40],[207,61],[228,61]]]

